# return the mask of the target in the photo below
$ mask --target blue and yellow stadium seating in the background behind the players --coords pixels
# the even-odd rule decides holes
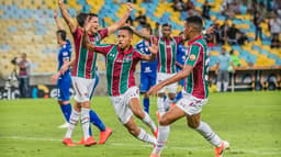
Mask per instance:
[[[124,4],[115,3],[114,0],[66,0],[69,13],[72,18],[80,12],[99,13],[100,25],[108,26],[116,22],[125,12]],[[204,0],[194,1],[196,10],[201,10]],[[211,20],[205,21],[205,27],[217,23],[222,25],[225,16],[221,13],[223,0],[209,0],[213,5],[211,9]],[[31,59],[33,72],[54,72],[56,69],[56,25],[53,19],[54,11],[57,10],[56,0],[0,0],[0,76],[7,76],[13,66],[10,60],[20,53],[26,53]],[[155,27],[156,23],[169,22],[173,29],[173,35],[182,31],[187,12],[177,12],[172,9],[172,1],[142,2],[137,0],[132,19],[135,19],[138,11],[147,16],[147,22]],[[270,32],[268,20],[261,23],[262,41],[255,41],[255,26],[251,15],[247,13],[247,7],[240,4],[240,14],[228,20],[228,24],[236,24],[236,27],[244,32],[249,42],[246,45],[225,45],[229,52],[232,48],[238,55],[243,66],[249,63],[257,67],[272,67],[281,65],[280,48],[270,47]],[[63,23],[63,20],[60,20]],[[67,26],[64,27],[68,31]],[[68,32],[68,36],[70,36]],[[71,38],[71,37],[70,37]],[[139,38],[135,37],[133,43]],[[116,36],[112,35],[103,43],[114,43]],[[220,55],[221,46],[211,48],[211,66],[214,66]],[[103,57],[99,57],[99,68],[104,70]]]

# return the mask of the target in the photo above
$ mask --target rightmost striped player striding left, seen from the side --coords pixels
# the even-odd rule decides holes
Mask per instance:
[[[161,150],[167,142],[170,131],[169,125],[186,116],[188,125],[200,133],[206,141],[215,146],[215,157],[222,157],[229,144],[222,141],[217,134],[203,121],[200,115],[202,106],[207,103],[207,71],[210,56],[206,42],[201,35],[202,19],[190,16],[184,24],[184,36],[189,40],[187,59],[183,69],[173,77],[157,83],[148,94],[156,96],[165,86],[175,83],[181,79],[186,80],[183,97],[176,106],[165,113],[159,122],[157,145],[150,157],[160,157]]]

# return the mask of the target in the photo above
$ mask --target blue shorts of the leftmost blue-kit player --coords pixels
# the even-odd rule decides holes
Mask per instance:
[[[57,100],[58,101],[70,100],[70,91],[69,91],[70,85],[71,85],[71,77],[69,72],[58,78],[57,80]]]

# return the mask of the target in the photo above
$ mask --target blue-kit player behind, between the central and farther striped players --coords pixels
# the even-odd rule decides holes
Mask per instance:
[[[142,32],[145,35],[151,35],[151,27],[150,25],[144,25]],[[140,51],[144,54],[149,55],[150,52],[148,49],[148,46],[151,46],[151,44],[145,40],[139,41],[135,48],[137,51]],[[140,93],[144,93],[144,110],[146,113],[149,114],[149,97],[146,94],[146,92],[149,90],[150,87],[155,86],[156,83],[156,72],[157,72],[157,59],[154,61],[140,61]]]

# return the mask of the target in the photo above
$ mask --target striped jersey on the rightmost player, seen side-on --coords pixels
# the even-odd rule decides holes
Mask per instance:
[[[187,47],[187,59],[184,65],[193,67],[192,72],[186,78],[184,90],[199,99],[209,96],[207,72],[209,72],[209,49],[206,42],[199,36],[189,42]]]

